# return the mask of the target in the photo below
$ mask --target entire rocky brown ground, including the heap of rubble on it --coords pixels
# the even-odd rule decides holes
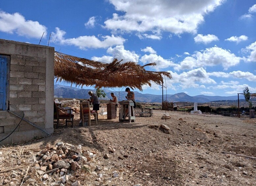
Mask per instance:
[[[256,159],[222,153],[256,157],[255,119],[163,113],[91,127],[75,114],[74,128],[1,146],[0,185],[256,185]]]

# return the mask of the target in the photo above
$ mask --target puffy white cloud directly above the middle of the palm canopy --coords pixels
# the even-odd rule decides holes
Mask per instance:
[[[107,49],[107,53],[111,54],[111,56],[102,56],[102,57],[94,56],[92,60],[101,61],[105,63],[112,62],[114,58],[118,60],[123,60],[122,63],[125,63],[128,61],[133,61],[135,63],[138,63],[138,60],[139,60],[139,55],[137,55],[134,51],[125,50],[125,47],[123,45],[117,45],[114,48],[109,47]]]

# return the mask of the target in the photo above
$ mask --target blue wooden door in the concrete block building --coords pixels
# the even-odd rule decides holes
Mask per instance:
[[[0,55],[0,110],[6,110],[7,56]]]

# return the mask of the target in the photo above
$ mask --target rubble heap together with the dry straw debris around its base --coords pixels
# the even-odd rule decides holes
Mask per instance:
[[[14,151],[12,151],[14,152]],[[31,151],[27,153],[26,170],[19,168],[8,172],[0,184],[3,185],[86,185],[86,182],[94,185],[109,185],[112,181],[123,180],[120,171],[104,167],[96,152],[83,150],[82,146],[58,142],[55,146],[46,146],[34,155]],[[21,161],[17,153],[16,159]],[[22,157],[25,157],[24,155]],[[14,157],[15,158],[15,157]],[[106,157],[101,157],[106,158]],[[25,163],[21,161],[20,164]],[[20,165],[19,164],[19,165]],[[23,179],[21,179],[23,177]]]

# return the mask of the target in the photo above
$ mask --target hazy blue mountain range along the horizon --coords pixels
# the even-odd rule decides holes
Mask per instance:
[[[127,93],[125,91],[121,91],[120,94],[111,91],[108,89],[103,89],[104,92],[107,94],[104,100],[109,100],[111,98],[110,93],[113,92],[117,97],[118,100],[125,100],[125,96]],[[77,99],[89,99],[88,92],[93,91],[94,89],[79,89],[75,87],[69,87],[64,85],[54,85],[54,95],[57,97],[63,98],[77,98]],[[135,93],[135,100],[137,102],[162,102],[162,95],[155,95],[155,94],[143,94],[137,91]],[[243,95],[240,96],[240,99],[243,98]],[[166,99],[166,95],[164,95],[164,100]],[[205,103],[211,101],[218,101],[218,100],[237,100],[237,96],[209,96],[209,95],[196,95],[196,96],[189,96],[186,93],[176,93],[176,94],[167,94],[167,100],[173,102],[198,102],[198,103]]]

